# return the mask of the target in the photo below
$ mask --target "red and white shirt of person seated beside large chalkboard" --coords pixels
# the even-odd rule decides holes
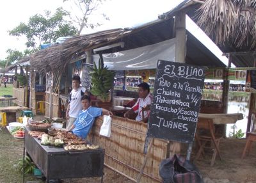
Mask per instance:
[[[147,97],[145,99],[143,98],[139,98],[136,102],[136,104],[134,104],[134,106],[132,107],[133,111],[135,113],[138,113],[138,115],[136,116],[136,121],[140,122],[142,121],[142,111],[141,108],[142,107],[146,107],[147,105],[150,105],[152,101],[152,95],[150,95],[150,93],[148,93]],[[150,111],[144,111],[144,117],[147,118],[149,115]]]

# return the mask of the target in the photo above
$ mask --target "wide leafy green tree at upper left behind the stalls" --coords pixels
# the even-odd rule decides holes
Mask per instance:
[[[54,15],[50,11],[45,11],[45,16],[33,15],[29,17],[28,24],[20,22],[19,26],[9,31],[9,35],[26,36],[26,46],[33,52],[38,51],[38,44],[55,42],[61,36],[77,35],[77,29],[65,19],[67,15],[63,8],[57,8]]]

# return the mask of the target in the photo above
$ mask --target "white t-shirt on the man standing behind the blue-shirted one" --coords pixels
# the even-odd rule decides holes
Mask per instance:
[[[70,106],[68,115],[72,118],[77,118],[79,112],[83,109],[81,104],[81,98],[83,97],[81,91],[84,93],[85,88],[79,86],[77,90],[73,89],[70,92]]]

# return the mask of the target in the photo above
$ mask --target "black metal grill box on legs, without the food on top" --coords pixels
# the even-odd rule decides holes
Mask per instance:
[[[26,149],[27,154],[42,171],[47,182],[50,179],[82,177],[103,179],[105,154],[103,148],[66,151],[63,147],[41,145],[40,140],[28,134],[29,131],[29,128],[25,127],[24,150]]]

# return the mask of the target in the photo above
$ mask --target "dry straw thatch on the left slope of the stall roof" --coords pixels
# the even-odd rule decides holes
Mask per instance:
[[[68,38],[63,44],[52,45],[32,54],[29,57],[31,68],[38,72],[63,70],[68,62],[79,58],[87,49],[93,49],[94,47],[112,42],[129,32],[131,31],[111,29]]]

